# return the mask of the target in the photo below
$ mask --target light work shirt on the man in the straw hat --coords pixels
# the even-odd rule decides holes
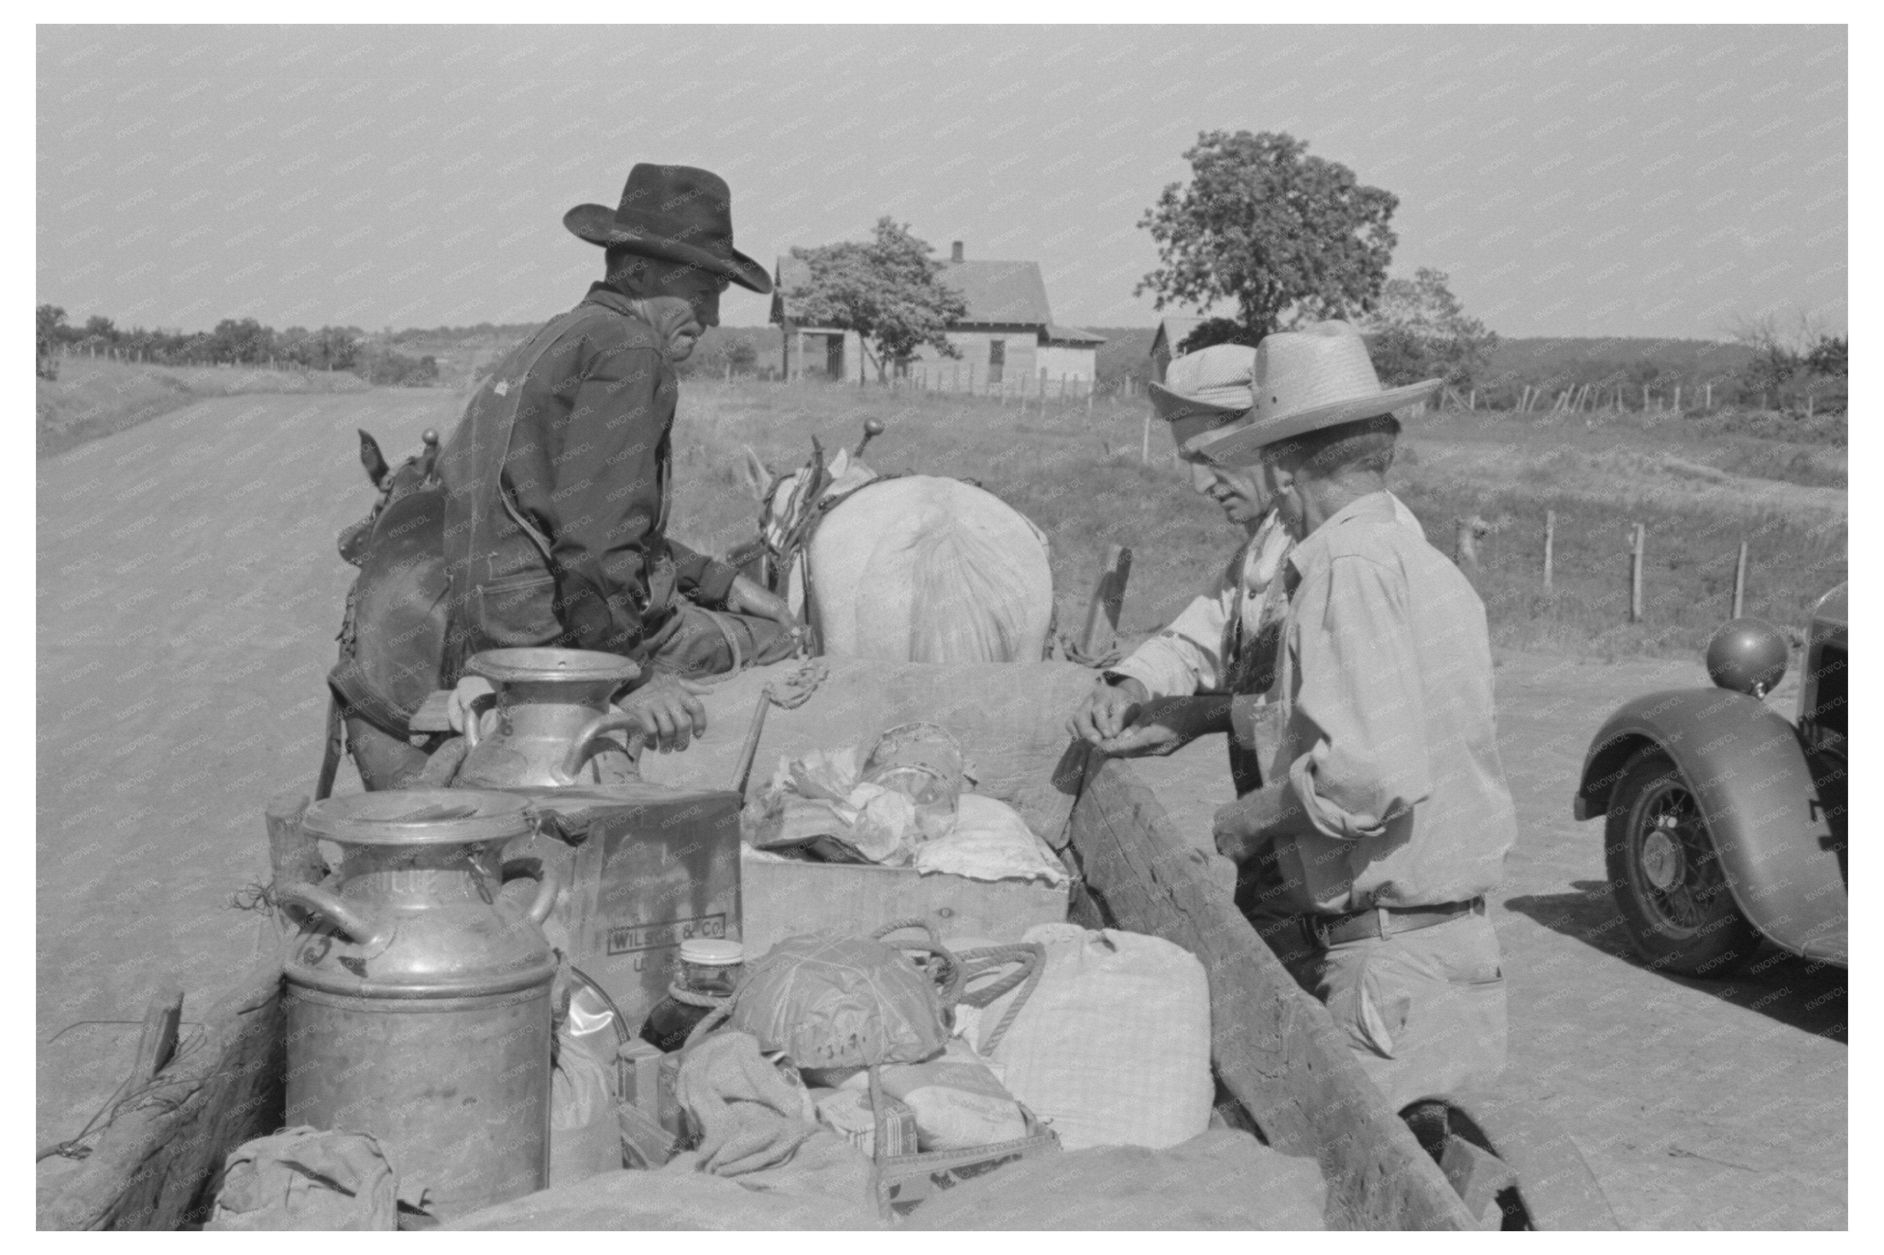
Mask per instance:
[[[1517,837],[1485,603],[1394,505],[1387,492],[1351,501],[1289,556],[1266,774],[1289,780],[1315,829],[1277,840],[1300,910],[1477,897]],[[1251,707],[1238,707],[1245,733]]]

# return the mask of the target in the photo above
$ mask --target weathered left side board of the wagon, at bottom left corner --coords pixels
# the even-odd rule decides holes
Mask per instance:
[[[132,1093],[40,1229],[179,1229],[207,1217],[222,1163],[284,1114],[281,967],[226,993],[156,1080]]]

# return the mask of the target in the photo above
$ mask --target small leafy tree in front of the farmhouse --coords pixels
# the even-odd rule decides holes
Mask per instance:
[[[857,332],[876,345],[876,377],[884,381],[891,362],[908,362],[923,345],[946,358],[961,356],[946,330],[968,313],[968,303],[942,283],[942,262],[931,253],[908,224],[882,217],[870,243],[793,249],[810,277],[786,296],[803,322]]]

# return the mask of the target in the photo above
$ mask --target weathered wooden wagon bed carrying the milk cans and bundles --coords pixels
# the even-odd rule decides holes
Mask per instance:
[[[1326,1010],[1238,912],[1210,857],[1174,829],[1132,763],[1066,744],[1061,724],[1068,697],[1083,692],[1089,671],[1068,663],[857,663],[840,671],[823,701],[823,722],[816,701],[808,714],[774,712],[767,748],[808,748],[829,737],[831,714],[859,731],[910,716],[955,727],[982,763],[983,791],[1006,793],[1023,814],[1032,810],[1036,831],[1053,829],[1053,844],[1076,869],[1076,923],[1151,933],[1204,963],[1219,1110],[1247,1121],[1270,1146],[1319,1163],[1330,1229],[1615,1227],[1569,1138],[1519,1100],[1453,1095],[1454,1136],[1439,1159],[1421,1146],[1351,1059]],[[720,705],[727,714],[740,703],[752,710],[759,682],[740,676],[725,686]],[[718,710],[716,718],[725,722]],[[710,756],[688,761],[697,771],[722,765]],[[121,1108],[81,1170],[41,1204],[41,1229],[200,1225],[228,1153],[281,1127],[286,1048],[279,967],[251,972],[202,1021],[202,1035],[173,1059],[173,1012],[168,1035],[162,1016],[149,1025],[151,1040],[139,1053],[149,1078],[139,1099]]]

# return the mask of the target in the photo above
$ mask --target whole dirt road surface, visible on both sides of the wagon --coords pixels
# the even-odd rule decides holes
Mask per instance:
[[[262,805],[305,790],[318,761],[350,577],[333,535],[371,501],[352,430],[403,454],[460,405],[230,398],[38,465],[40,1144],[75,1133],[132,1061],[136,1023],[77,1021],[136,1021],[166,980],[188,1018],[252,959],[256,918],[232,897],[264,874]],[[1843,1227],[1843,972],[1784,957],[1730,984],[1641,970],[1601,893],[1600,833],[1569,818],[1601,716],[1699,680],[1686,661],[1502,663],[1522,822],[1494,899],[1507,1076],[1571,1131],[1628,1227]],[[1204,839],[1228,795],[1221,746],[1149,774]],[[70,1166],[41,1165],[41,1187]]]

